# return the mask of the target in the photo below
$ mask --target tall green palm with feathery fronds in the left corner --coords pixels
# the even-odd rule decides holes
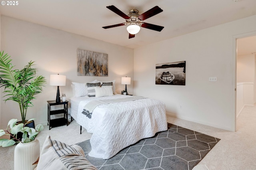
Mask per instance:
[[[7,53],[0,51],[0,87],[4,87],[4,101],[15,101],[19,104],[20,123],[26,123],[27,109],[33,106],[31,101],[35,99],[35,95],[42,92],[46,79],[42,75],[36,75],[37,69],[32,68],[34,61],[28,62],[21,70],[14,69],[11,61]]]

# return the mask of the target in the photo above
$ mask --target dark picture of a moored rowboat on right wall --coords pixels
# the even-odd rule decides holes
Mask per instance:
[[[156,85],[185,85],[186,61],[156,64]]]

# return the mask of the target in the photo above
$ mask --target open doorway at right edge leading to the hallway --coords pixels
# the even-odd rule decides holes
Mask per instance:
[[[245,105],[256,103],[256,33],[236,38],[235,119]],[[236,120],[235,120],[236,122]],[[237,130],[237,129],[236,129]]]

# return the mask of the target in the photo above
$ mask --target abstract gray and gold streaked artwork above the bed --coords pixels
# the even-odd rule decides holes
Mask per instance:
[[[77,49],[77,75],[108,76],[108,54]]]

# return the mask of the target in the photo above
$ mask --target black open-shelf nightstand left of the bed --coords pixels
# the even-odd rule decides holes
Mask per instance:
[[[55,100],[52,100],[52,101],[47,101],[47,103],[48,103],[49,130],[51,129],[51,127],[58,127],[62,125],[68,126],[68,101],[60,101],[60,103],[56,103]],[[56,106],[56,105],[63,105],[63,109],[51,110],[51,106]],[[51,115],[58,115],[58,114],[63,114],[63,117],[58,119],[51,119]]]

